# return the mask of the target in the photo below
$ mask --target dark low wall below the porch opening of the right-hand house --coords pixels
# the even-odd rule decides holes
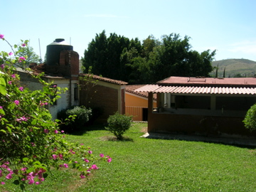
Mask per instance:
[[[189,134],[212,137],[255,137],[244,127],[241,117],[211,117],[191,114],[149,112],[148,132]]]

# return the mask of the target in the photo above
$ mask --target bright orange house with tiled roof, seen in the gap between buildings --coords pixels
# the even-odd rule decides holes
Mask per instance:
[[[132,115],[133,121],[148,120],[148,93],[134,92],[144,85],[126,85],[125,87],[125,114]],[[153,107],[156,107],[154,95]]]

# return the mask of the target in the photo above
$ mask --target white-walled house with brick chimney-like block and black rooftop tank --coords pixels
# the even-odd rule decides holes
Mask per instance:
[[[65,42],[63,38],[56,38],[53,43],[47,46],[46,64],[30,65],[34,74],[44,72],[42,79],[46,82],[53,82],[58,87],[68,87],[68,92],[60,94],[60,99],[53,105],[48,105],[48,110],[53,119],[57,118],[58,112],[71,106],[79,105],[78,75],[79,55],[73,51],[73,46]],[[21,83],[30,90],[41,90],[43,86],[37,79],[31,78],[28,73],[18,69]]]

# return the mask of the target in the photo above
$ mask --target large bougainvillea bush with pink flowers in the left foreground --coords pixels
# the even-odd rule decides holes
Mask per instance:
[[[9,43],[0,34],[1,43]],[[94,169],[95,161],[111,161],[110,156],[92,154],[84,144],[68,143],[65,134],[59,130],[60,121],[52,121],[46,105],[50,95],[65,92],[65,89],[51,86],[26,69],[26,57],[18,57],[21,46],[28,41],[11,46],[12,52],[0,53],[0,188],[6,182],[19,185],[22,190],[27,184],[41,184],[47,181],[49,169],[72,167],[85,178]],[[17,51],[16,51],[17,50]],[[31,91],[21,86],[16,66],[37,78],[43,90]],[[73,117],[70,117],[71,119]]]

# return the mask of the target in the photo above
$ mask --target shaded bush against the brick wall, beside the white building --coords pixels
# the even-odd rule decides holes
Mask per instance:
[[[62,110],[58,113],[58,119],[64,121],[70,115],[76,115],[75,120],[68,122],[68,124],[63,125],[63,129],[66,132],[78,131],[85,123],[89,122],[92,117],[92,110],[90,108],[86,109],[84,106],[75,106],[68,110]]]

